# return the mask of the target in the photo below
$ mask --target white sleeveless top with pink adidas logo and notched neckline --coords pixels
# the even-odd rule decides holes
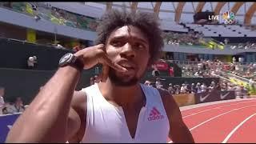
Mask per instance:
[[[107,102],[98,84],[82,89],[87,95],[86,131],[82,142],[166,143],[170,126],[162,98],[155,88],[143,84],[141,87],[146,95],[146,106],[138,116],[134,138],[130,136],[122,107]]]

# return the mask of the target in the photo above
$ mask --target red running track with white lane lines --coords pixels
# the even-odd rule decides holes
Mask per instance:
[[[256,98],[182,110],[182,118],[197,143],[256,142]]]

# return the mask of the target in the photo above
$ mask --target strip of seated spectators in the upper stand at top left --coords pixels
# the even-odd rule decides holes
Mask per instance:
[[[34,11],[30,6],[29,2],[11,2],[11,7],[6,7],[3,2],[0,2],[0,6],[13,10],[18,13],[26,14],[31,17],[38,15],[47,21],[54,22],[58,25],[71,26],[74,28],[79,28],[83,30],[95,31],[98,22],[94,18],[88,18],[83,15],[73,14],[66,10],[58,10],[57,8],[52,8],[38,2],[38,10]]]

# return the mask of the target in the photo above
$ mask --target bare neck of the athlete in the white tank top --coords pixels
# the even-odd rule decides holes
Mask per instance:
[[[139,83],[134,86],[115,86],[108,78],[106,82],[99,82],[98,87],[103,97],[114,105],[132,108],[144,104],[144,94]]]

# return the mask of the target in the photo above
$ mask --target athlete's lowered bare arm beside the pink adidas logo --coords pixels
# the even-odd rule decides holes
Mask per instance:
[[[158,89],[170,122],[169,137],[173,142],[194,143],[194,138],[182,120],[182,114],[174,98],[167,90]]]

